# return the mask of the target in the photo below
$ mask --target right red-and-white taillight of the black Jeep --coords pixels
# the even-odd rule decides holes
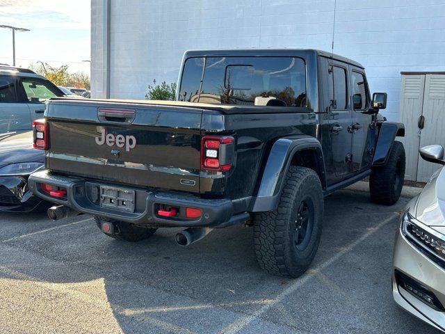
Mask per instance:
[[[234,160],[234,138],[204,136],[201,142],[201,169],[226,171]]]

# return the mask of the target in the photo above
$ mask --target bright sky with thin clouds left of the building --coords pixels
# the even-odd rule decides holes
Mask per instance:
[[[90,74],[90,0],[0,0],[0,25],[15,32],[15,63],[67,64],[69,72]],[[0,63],[13,65],[13,33],[0,29]]]

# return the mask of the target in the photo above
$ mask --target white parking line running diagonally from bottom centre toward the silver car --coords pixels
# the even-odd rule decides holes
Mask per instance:
[[[263,315],[265,312],[270,310],[274,305],[277,305],[277,303],[280,303],[286,296],[289,294],[292,294],[293,292],[296,292],[302,285],[304,285],[308,280],[311,278],[314,278],[320,271],[325,269],[326,267],[329,267],[332,263],[339,260],[340,257],[345,255],[346,253],[349,253],[355,246],[360,244],[365,239],[371,237],[375,232],[380,230],[383,226],[387,225],[390,221],[392,221],[396,216],[400,216],[398,213],[391,214],[385,221],[382,221],[379,225],[375,226],[374,228],[369,228],[368,232],[362,235],[359,239],[355,240],[353,243],[351,243],[346,248],[343,248],[338,253],[336,253],[334,256],[330,257],[329,260],[323,262],[322,264],[318,265],[318,267],[315,267],[314,269],[309,269],[307,273],[302,276],[302,278],[296,280],[293,284],[291,284],[287,289],[285,289],[282,293],[280,293],[273,301],[270,303],[264,305],[262,308],[259,308],[255,312],[252,313],[252,315],[244,315],[243,317],[237,319],[232,324],[227,326],[226,328],[223,328],[223,331],[220,331],[221,334],[234,334],[238,333],[243,329],[245,326],[248,326],[252,321],[258,319]]]

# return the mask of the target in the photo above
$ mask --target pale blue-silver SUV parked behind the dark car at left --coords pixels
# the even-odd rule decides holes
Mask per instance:
[[[33,120],[43,116],[44,102],[55,96],[65,95],[45,77],[0,65],[0,134],[31,130]]]

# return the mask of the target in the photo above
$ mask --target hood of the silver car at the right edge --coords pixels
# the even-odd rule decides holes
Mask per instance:
[[[431,227],[445,231],[445,169],[437,170],[419,195],[416,218]]]

